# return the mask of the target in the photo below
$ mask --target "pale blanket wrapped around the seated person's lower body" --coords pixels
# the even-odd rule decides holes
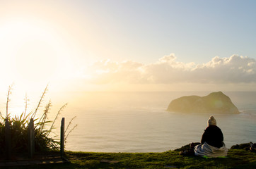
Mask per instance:
[[[225,144],[223,144],[221,148],[218,148],[204,142],[204,144],[199,144],[194,147],[194,154],[196,156],[206,156],[208,158],[223,157],[227,156],[228,149],[226,148]]]

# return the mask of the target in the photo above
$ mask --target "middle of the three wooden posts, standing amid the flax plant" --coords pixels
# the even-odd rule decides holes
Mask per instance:
[[[34,130],[34,119],[30,119],[28,125],[28,153],[29,157],[32,158],[35,153],[35,130]]]

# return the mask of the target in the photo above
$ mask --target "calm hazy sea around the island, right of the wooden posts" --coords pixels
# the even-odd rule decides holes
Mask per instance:
[[[230,148],[256,142],[256,92],[224,92],[240,114],[213,114]],[[209,92],[95,92],[76,94],[66,109],[66,121],[78,127],[66,149],[97,152],[162,152],[200,142],[210,114],[170,113],[171,100]],[[67,124],[68,122],[66,122]]]

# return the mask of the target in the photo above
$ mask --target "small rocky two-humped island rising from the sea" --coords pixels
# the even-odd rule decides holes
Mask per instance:
[[[171,101],[167,111],[180,113],[239,113],[238,108],[223,92],[213,92],[207,96],[182,96]]]

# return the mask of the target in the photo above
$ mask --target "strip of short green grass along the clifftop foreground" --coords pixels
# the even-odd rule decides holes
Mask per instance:
[[[227,158],[181,156],[178,151],[163,153],[93,153],[67,151],[71,163],[33,165],[23,168],[256,168],[256,153],[231,149]],[[120,161],[102,163],[103,159]]]

